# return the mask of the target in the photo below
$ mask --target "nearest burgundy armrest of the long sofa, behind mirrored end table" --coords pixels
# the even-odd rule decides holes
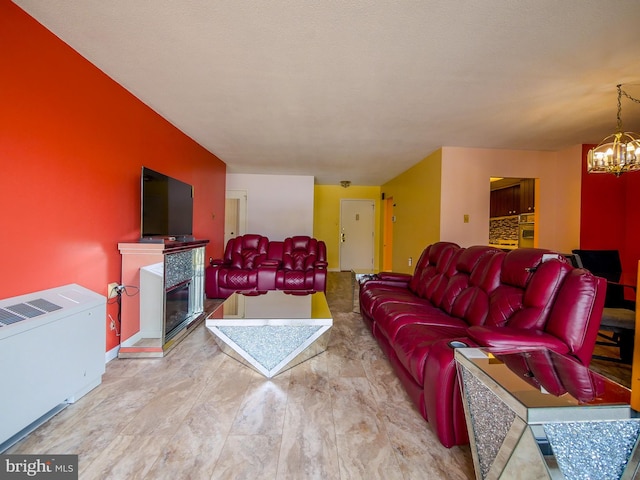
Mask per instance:
[[[472,340],[483,347],[546,347],[557,353],[569,353],[569,347],[566,343],[553,335],[539,330],[485,325],[470,327],[467,333]]]

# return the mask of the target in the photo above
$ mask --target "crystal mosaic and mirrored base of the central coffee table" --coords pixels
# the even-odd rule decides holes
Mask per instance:
[[[267,378],[324,352],[331,333],[327,321],[287,320],[286,325],[252,325],[245,321],[241,326],[225,323],[228,322],[207,321],[218,346]]]

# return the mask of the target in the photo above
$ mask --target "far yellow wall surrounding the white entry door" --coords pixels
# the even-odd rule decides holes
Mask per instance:
[[[314,188],[313,236],[327,244],[329,270],[340,268],[340,200],[373,200],[375,207],[374,268],[380,265],[380,187],[316,185]]]

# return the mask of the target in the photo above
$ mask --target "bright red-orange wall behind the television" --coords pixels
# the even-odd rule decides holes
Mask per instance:
[[[120,282],[143,165],[194,186],[194,235],[221,256],[224,162],[8,0],[0,45],[0,298]],[[108,326],[107,351],[119,343]]]

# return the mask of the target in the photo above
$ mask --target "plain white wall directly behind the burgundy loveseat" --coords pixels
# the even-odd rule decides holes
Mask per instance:
[[[247,233],[269,240],[313,235],[313,186],[312,176],[227,174],[227,190],[247,192]]]

